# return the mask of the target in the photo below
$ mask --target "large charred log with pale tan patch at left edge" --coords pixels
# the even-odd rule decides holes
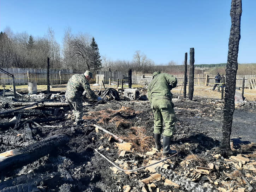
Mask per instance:
[[[22,149],[13,149],[0,154],[0,170],[22,167],[52,152],[69,142],[65,134],[42,139]]]

